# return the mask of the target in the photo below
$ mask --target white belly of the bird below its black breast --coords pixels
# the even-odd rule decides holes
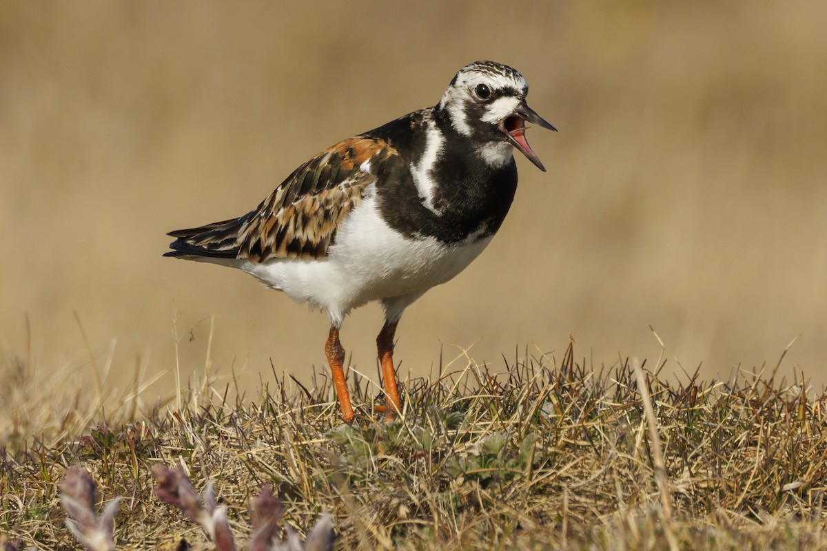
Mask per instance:
[[[366,197],[343,221],[327,259],[244,261],[239,268],[341,323],[366,302],[413,298],[447,282],[476,259],[490,237],[468,241],[447,246],[433,237],[406,239],[380,218],[375,198]]]

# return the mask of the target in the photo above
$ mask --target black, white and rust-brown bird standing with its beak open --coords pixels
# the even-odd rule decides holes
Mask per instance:
[[[324,350],[348,424],[355,414],[339,331],[351,310],[380,302],[383,410],[394,419],[402,411],[394,338],[405,309],[471,264],[500,229],[517,189],[514,149],[546,171],[526,122],[557,129],[527,95],[516,69],[467,64],[435,106],[328,147],[243,216],[170,231],[164,256],[241,269],[326,312]]]

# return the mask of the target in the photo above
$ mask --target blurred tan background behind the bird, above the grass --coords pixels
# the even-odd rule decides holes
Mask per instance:
[[[251,390],[324,368],[327,319],[246,274],[162,259],[337,140],[433,105],[477,59],[560,132],[528,138],[489,249],[412,306],[402,371],[442,343],[705,377],[784,360],[827,382],[827,2],[2,2],[0,340],[43,373],[112,355]],[[175,321],[174,321],[175,320]],[[377,306],[346,322],[375,373]],[[460,350],[446,345],[445,362]],[[536,346],[535,346],[536,345]],[[169,388],[170,373],[157,383]]]

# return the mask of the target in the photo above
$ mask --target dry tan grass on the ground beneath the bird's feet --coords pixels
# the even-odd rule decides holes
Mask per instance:
[[[23,546],[74,549],[58,503],[69,466],[84,465],[104,501],[121,496],[121,549],[173,549],[204,536],[153,496],[153,466],[179,465],[200,492],[212,480],[233,537],[251,537],[248,504],[266,484],[284,501],[284,525],[304,534],[324,512],[340,549],[827,549],[825,396],[773,373],[726,382],[662,364],[645,373],[667,487],[630,362],[610,367],[544,354],[473,362],[409,381],[404,419],[389,424],[362,406],[338,420],[332,386],[263,383],[257,397],[190,387],[180,408],[139,411],[129,401],[88,422],[69,392],[50,403],[15,401],[26,425],[0,449],[0,532]],[[25,362],[2,376],[25,381]],[[38,394],[17,382],[3,391]],[[208,388],[208,392],[202,392]],[[373,388],[356,382],[356,402]],[[0,402],[8,407],[7,402]],[[79,407],[73,422],[61,425]],[[95,409],[94,406],[91,406]],[[71,416],[69,416],[71,417]],[[664,524],[662,496],[672,507]]]

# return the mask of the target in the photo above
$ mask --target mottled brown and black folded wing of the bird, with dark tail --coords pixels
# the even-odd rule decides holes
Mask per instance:
[[[177,230],[166,256],[318,259],[327,254],[347,213],[374,183],[378,167],[398,158],[389,143],[350,138],[324,150],[290,174],[240,218]]]

